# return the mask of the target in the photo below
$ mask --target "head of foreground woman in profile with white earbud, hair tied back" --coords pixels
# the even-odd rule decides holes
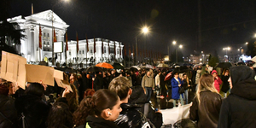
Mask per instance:
[[[86,119],[88,115],[91,115],[114,121],[119,117],[119,113],[122,111],[120,104],[119,96],[113,93],[113,91],[106,89],[97,90],[93,96],[87,96],[83,99],[79,108],[74,113],[74,116],[77,117],[77,115],[79,115]],[[81,115],[81,113],[83,113],[83,115]]]

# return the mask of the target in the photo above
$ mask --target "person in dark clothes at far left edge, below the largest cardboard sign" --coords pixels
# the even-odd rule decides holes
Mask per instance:
[[[17,111],[15,109],[15,100],[9,96],[8,82],[0,84],[0,127],[16,128],[18,127]]]

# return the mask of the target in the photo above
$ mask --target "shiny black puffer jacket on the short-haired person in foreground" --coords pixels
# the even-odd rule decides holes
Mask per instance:
[[[139,108],[137,105],[122,103],[121,108],[122,112],[119,114],[118,119],[114,121],[120,128],[142,128],[143,126],[150,128],[148,119],[137,110]]]

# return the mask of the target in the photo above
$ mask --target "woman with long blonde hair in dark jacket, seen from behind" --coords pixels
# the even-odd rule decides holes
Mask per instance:
[[[199,80],[189,118],[197,121],[198,127],[217,127],[222,97],[213,85],[211,74],[204,74]]]

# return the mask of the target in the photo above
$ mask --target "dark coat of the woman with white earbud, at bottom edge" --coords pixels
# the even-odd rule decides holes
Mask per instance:
[[[85,127],[85,126],[84,126]],[[94,116],[88,116],[86,118],[86,128],[119,128],[112,121],[102,118],[96,118]]]

